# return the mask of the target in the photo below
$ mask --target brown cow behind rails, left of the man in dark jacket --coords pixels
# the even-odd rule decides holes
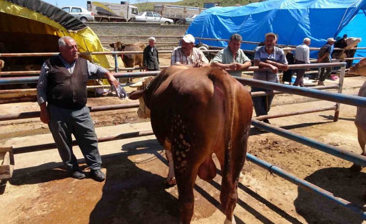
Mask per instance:
[[[146,47],[146,45],[142,42],[136,42],[134,44],[123,44],[119,41],[116,43],[109,44],[109,46],[113,47],[114,51],[143,51],[143,49]],[[142,56],[143,56],[142,53],[118,54],[118,55],[121,56],[125,68],[134,68],[135,65],[138,65],[140,68],[144,67],[142,64]],[[132,78],[130,78],[129,81],[132,81]]]

